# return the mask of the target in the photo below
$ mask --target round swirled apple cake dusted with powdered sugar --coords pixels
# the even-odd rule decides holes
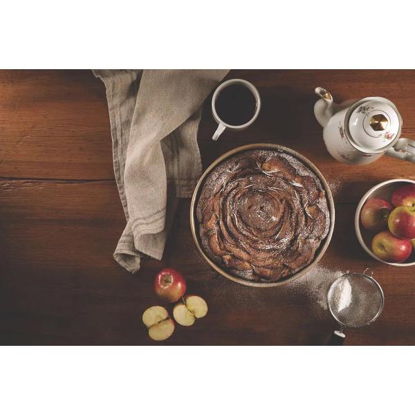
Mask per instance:
[[[196,208],[205,254],[237,277],[275,282],[313,261],[329,233],[320,179],[273,150],[231,156],[206,177]]]

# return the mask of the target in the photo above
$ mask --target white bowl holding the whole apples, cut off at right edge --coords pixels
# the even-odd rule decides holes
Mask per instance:
[[[374,252],[371,251],[371,239],[374,237],[374,232],[369,232],[365,229],[361,229],[360,226],[360,211],[362,210],[363,205],[368,201],[369,199],[379,198],[379,199],[385,199],[387,201],[391,201],[391,196],[394,193],[398,187],[405,185],[407,183],[412,183],[415,185],[415,181],[409,180],[409,178],[394,178],[392,180],[388,180],[382,183],[379,183],[378,185],[374,186],[365,194],[365,196],[360,199],[360,202],[358,204],[358,208],[356,209],[355,214],[355,229],[356,229],[356,236],[358,237],[358,240],[360,242],[360,245],[362,248],[374,259],[377,259],[380,262],[383,262],[383,264],[389,264],[394,266],[411,266],[415,265],[414,261],[414,253],[412,253],[409,258],[406,261],[403,262],[386,262],[382,261],[382,259],[376,257]]]

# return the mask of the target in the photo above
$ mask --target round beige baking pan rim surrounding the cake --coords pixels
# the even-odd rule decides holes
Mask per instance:
[[[285,277],[284,279],[281,279],[280,281],[276,282],[254,282],[249,281],[247,279],[243,279],[241,277],[237,277],[235,275],[232,275],[227,270],[217,266],[214,264],[214,262],[205,254],[203,251],[203,247],[201,245],[200,236],[199,236],[199,222],[196,218],[196,206],[199,201],[199,196],[203,187],[203,183],[205,183],[205,178],[212,172],[214,167],[219,165],[223,162],[226,158],[229,158],[231,156],[234,156],[235,154],[243,153],[244,151],[248,150],[272,150],[272,151],[282,151],[286,154],[290,154],[291,156],[297,158],[299,161],[304,163],[310,169],[319,179],[322,183],[322,186],[324,188],[324,191],[326,192],[326,199],[327,199],[327,206],[329,208],[329,214],[330,214],[330,228],[329,233],[324,238],[322,243],[320,244],[319,248],[317,249],[315,253],[315,257],[313,259],[313,262],[311,264],[308,264],[308,266],[304,267],[302,270],[299,270],[297,273],[290,275],[289,277]],[[190,228],[192,229],[192,235],[194,239],[194,243],[196,243],[196,246],[201,253],[202,257],[205,259],[205,261],[216,271],[216,273],[219,273],[223,275],[223,277],[226,277],[228,279],[231,279],[234,282],[237,282],[239,284],[243,284],[246,286],[252,286],[252,287],[273,287],[273,286],[280,286],[282,284],[287,284],[288,282],[293,281],[294,279],[297,279],[308,272],[315,264],[317,264],[318,261],[322,258],[324,255],[324,252],[326,252],[326,249],[329,246],[331,236],[333,234],[333,228],[334,228],[334,203],[333,203],[333,196],[331,196],[331,191],[329,189],[329,185],[327,185],[326,180],[324,179],[323,175],[320,173],[320,171],[311,163],[310,160],[302,156],[301,154],[297,153],[297,151],[294,151],[292,149],[288,149],[287,147],[283,147],[282,145],[277,144],[250,144],[250,145],[243,145],[242,147],[237,147],[236,149],[233,149],[231,151],[228,151],[228,153],[223,154],[219,158],[217,158],[202,174],[201,178],[199,179],[199,182],[196,185],[196,188],[194,189],[193,197],[192,197],[192,203],[190,204]]]

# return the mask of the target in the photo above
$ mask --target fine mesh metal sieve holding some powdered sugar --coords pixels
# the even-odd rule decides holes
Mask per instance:
[[[357,328],[374,322],[382,313],[382,288],[368,268],[359,273],[347,273],[331,284],[327,304],[331,315],[342,326],[335,335],[344,339],[344,327]]]

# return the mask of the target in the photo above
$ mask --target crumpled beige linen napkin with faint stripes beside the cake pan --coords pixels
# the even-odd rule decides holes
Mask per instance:
[[[161,259],[177,198],[201,176],[203,101],[226,70],[95,70],[107,89],[113,163],[127,225],[114,258],[131,273]]]

